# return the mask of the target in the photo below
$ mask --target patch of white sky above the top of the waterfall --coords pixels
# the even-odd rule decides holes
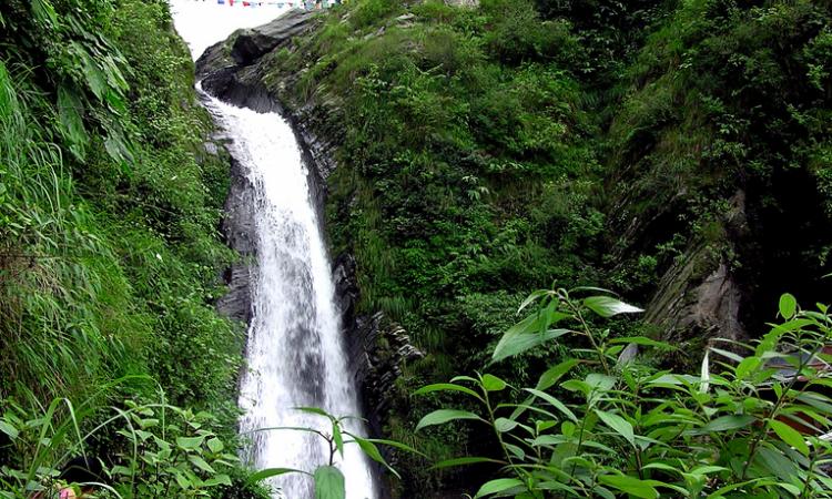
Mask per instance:
[[[242,0],[235,0],[234,7],[230,7],[227,0],[224,6],[216,0],[169,1],[176,31],[187,42],[194,60],[234,30],[265,24],[288,10],[285,6],[243,7]]]

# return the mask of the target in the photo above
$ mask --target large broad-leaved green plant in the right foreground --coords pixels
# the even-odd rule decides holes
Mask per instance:
[[[826,306],[803,310],[783,295],[782,323],[752,344],[714,342],[693,375],[621,356],[628,345],[673,347],[598,330],[588,317],[640,310],[606,294],[576,298],[586,292],[534,293],[520,310],[537,309],[495,348],[493,363],[559,337],[584,342],[534,387],[478,374],[417,391],[451,391],[481,408],[435,410],[417,430],[476,421],[501,450],[499,458],[466,456],[436,468],[501,466],[503,478],[484,483],[476,498],[832,496],[832,447],[822,438],[832,425]]]

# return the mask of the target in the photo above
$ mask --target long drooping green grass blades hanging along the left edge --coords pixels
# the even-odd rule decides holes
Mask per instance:
[[[128,286],[72,198],[61,150],[32,125],[30,106],[45,105],[27,73],[0,62],[0,395],[74,398],[123,359],[124,338],[104,330]]]

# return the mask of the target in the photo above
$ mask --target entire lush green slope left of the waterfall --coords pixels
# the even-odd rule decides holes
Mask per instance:
[[[83,452],[121,497],[231,483],[234,452],[214,431],[235,432],[243,342],[212,305],[233,255],[210,132],[166,2],[4,2],[3,497]]]

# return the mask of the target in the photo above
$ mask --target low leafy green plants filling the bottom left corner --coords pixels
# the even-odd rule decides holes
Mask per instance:
[[[8,439],[0,446],[14,452],[13,462],[0,467],[3,498],[70,486],[59,473],[73,456],[103,465],[104,476],[93,483],[102,497],[211,497],[212,490],[232,488],[231,473],[241,472],[235,452],[215,432],[213,415],[172,406],[164,397],[125,400],[103,419],[94,404],[73,406],[65,398],[41,414],[11,400],[0,407],[0,432]]]

